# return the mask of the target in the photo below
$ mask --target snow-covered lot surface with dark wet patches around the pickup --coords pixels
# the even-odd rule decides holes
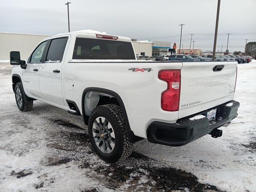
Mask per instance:
[[[0,63],[0,191],[256,191],[256,61],[239,64],[239,116],[221,138],[186,146],[138,142],[118,164],[90,148],[82,117],[39,101],[20,112]]]

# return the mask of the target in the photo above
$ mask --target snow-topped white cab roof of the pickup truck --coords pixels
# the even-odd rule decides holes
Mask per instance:
[[[96,34],[117,36],[117,35],[110,35],[110,34],[107,34],[106,32],[100,32],[100,31],[95,31],[95,30],[79,30],[79,31],[73,31],[73,32],[69,32],[69,33],[57,34],[57,35],[51,36],[46,39],[51,39],[54,37],[68,35],[68,34],[70,34],[71,36],[74,36],[74,37],[84,37],[84,38],[96,38]],[[118,37],[118,39],[117,39],[118,41],[131,42],[131,39],[128,37],[124,37],[124,36],[117,36],[117,37]]]

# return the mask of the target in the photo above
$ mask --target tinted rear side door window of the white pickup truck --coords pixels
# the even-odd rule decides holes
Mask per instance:
[[[68,38],[53,39],[50,48],[46,56],[47,61],[58,61],[61,62],[64,54],[64,50],[67,44]]]

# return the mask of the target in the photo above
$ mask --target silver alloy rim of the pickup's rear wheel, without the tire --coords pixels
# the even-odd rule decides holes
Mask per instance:
[[[110,122],[100,116],[94,120],[92,125],[92,135],[98,149],[106,154],[113,151],[115,146],[115,133]]]

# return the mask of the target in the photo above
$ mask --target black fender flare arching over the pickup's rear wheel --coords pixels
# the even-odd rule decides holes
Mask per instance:
[[[86,125],[88,125],[89,117],[86,116],[85,112],[84,112],[84,97],[85,97],[85,94],[87,92],[90,92],[90,91],[105,93],[105,94],[111,95],[114,98],[116,98],[116,100],[120,104],[120,107],[121,107],[123,115],[124,115],[124,123],[126,125],[125,127],[126,127],[126,130],[127,130],[129,140],[131,142],[137,142],[137,141],[140,141],[140,140],[143,139],[141,137],[138,137],[138,136],[134,135],[134,132],[131,130],[129,120],[128,120],[128,116],[127,116],[126,109],[125,109],[124,102],[123,102],[122,98],[116,92],[114,92],[112,90],[104,89],[104,88],[88,87],[88,88],[84,89],[84,91],[83,91],[83,94],[82,94],[82,116],[83,116],[83,119],[84,119],[84,123]]]

